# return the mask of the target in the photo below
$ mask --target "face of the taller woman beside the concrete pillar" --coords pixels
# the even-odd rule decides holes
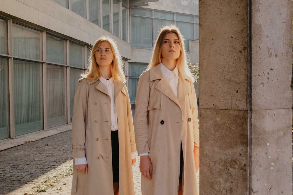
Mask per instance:
[[[166,34],[162,45],[162,58],[176,60],[179,58],[181,46],[176,33],[171,32]]]

